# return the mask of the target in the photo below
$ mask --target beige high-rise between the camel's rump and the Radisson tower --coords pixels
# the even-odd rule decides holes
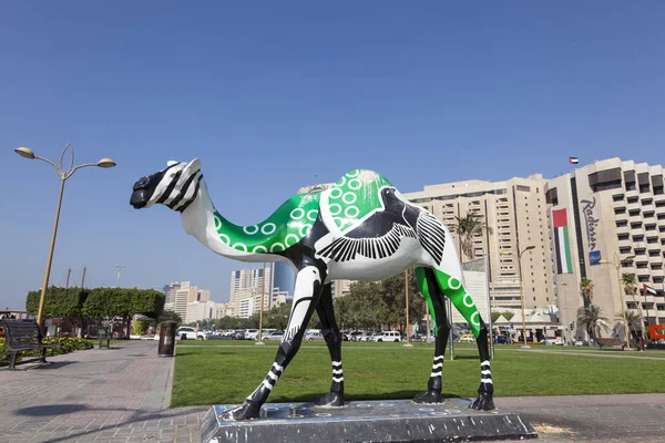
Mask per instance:
[[[493,308],[519,308],[520,282],[525,307],[542,308],[555,302],[545,184],[542,175],[534,174],[505,182],[473,179],[426,186],[405,196],[448,226],[461,261],[488,255]],[[463,254],[454,229],[458,217],[470,213],[490,228],[473,237],[473,257]],[[533,249],[524,253],[520,262],[520,253],[529,246]]]

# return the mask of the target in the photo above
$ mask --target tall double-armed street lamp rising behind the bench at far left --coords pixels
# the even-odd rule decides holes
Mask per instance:
[[[68,150],[70,151],[71,159],[70,159],[69,168],[66,171],[64,171],[64,168],[62,167],[62,162],[64,161],[64,154],[66,154]],[[43,162],[47,162],[48,164],[50,164],[51,166],[53,166],[55,168],[55,173],[58,174],[58,177],[60,178],[60,182],[61,182],[60,183],[60,194],[58,196],[58,207],[55,209],[55,222],[53,223],[53,234],[51,235],[51,246],[49,247],[49,257],[47,258],[47,270],[44,272],[44,281],[42,284],[41,295],[39,298],[39,310],[37,312],[37,323],[41,327],[42,320],[43,320],[42,317],[43,317],[43,312],[44,312],[44,298],[47,295],[47,288],[49,287],[49,276],[51,274],[51,262],[53,261],[53,248],[55,247],[55,235],[58,234],[58,222],[60,219],[60,207],[62,206],[62,194],[64,192],[64,182],[69,177],[71,177],[72,174],[74,174],[78,169],[80,169],[82,167],[98,166],[98,167],[109,168],[109,167],[115,166],[115,162],[113,162],[111,158],[104,157],[104,158],[100,159],[98,163],[85,163],[85,164],[82,164],[79,166],[74,166],[74,148],[71,143],[68,143],[68,145],[64,146],[64,150],[62,150],[62,154],[60,155],[60,164],[55,164],[48,158],[35,155],[34,152],[29,147],[17,147],[14,150],[14,152],[23,158],[41,159]]]

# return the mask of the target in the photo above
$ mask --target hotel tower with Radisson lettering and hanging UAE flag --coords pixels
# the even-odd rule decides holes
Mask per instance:
[[[610,319],[613,336],[623,337],[616,315],[625,309],[641,312],[645,323],[664,321],[663,167],[608,158],[552,178],[545,189],[562,323],[574,322],[583,306],[582,278],[592,280],[592,302]],[[635,276],[636,293],[626,293],[624,274]]]

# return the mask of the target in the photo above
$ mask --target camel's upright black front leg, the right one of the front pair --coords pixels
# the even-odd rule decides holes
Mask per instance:
[[[321,320],[321,334],[326,339],[332,361],[332,384],[330,392],[315,401],[317,406],[344,406],[344,373],[341,371],[341,332],[335,320],[330,284],[324,285],[321,298],[316,307]]]

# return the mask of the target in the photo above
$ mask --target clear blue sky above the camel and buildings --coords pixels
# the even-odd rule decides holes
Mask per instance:
[[[202,159],[213,200],[254,224],[298,187],[375,169],[402,192],[663,163],[661,1],[14,2],[0,13],[0,305],[23,308],[45,266],[59,181],[30,146],[76,163],[51,282],[192,280],[228,297],[245,264],[129,205],[166,161]]]

